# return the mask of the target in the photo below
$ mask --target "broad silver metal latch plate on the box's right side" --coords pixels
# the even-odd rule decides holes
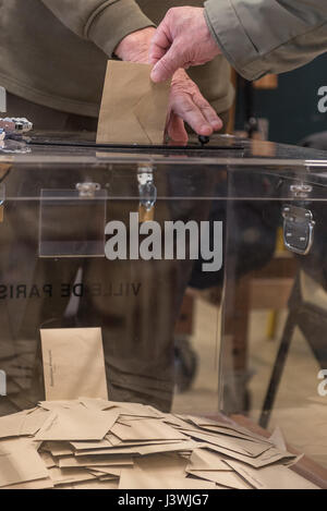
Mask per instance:
[[[313,214],[310,209],[286,205],[282,208],[283,242],[290,252],[308,254],[314,240]]]

